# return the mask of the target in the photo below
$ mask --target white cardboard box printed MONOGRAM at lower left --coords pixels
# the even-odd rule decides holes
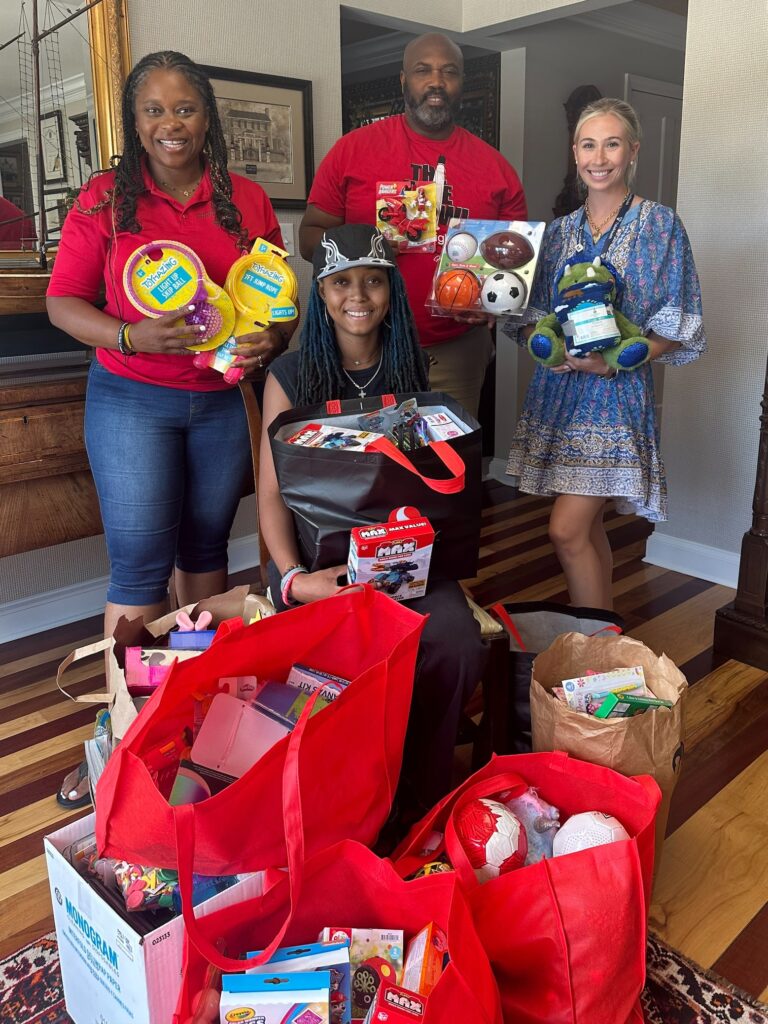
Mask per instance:
[[[45,837],[67,1012],[75,1024],[169,1024],[181,987],[183,921],[140,934],[77,872],[65,851],[94,827],[90,814]],[[196,915],[260,896],[262,888],[261,873],[244,879]]]

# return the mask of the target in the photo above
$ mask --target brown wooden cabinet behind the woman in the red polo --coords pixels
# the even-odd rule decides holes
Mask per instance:
[[[0,557],[100,534],[83,441],[86,372],[0,384]]]

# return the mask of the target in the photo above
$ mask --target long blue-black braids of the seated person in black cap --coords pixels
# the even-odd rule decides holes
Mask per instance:
[[[382,380],[387,391],[402,394],[428,391],[429,381],[424,356],[419,346],[413,313],[409,305],[402,274],[396,267],[387,269],[389,278],[389,324],[379,328],[382,351]],[[344,391],[347,380],[341,369],[341,353],[336,344],[333,321],[327,315],[317,282],[312,283],[299,347],[299,384],[297,406],[331,401]]]

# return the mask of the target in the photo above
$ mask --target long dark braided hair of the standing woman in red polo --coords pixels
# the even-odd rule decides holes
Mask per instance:
[[[194,60],[175,50],[160,50],[147,53],[133,68],[123,86],[123,155],[115,170],[115,187],[106,198],[89,209],[79,209],[83,213],[98,213],[105,206],[115,210],[115,227],[119,231],[135,233],[141,229],[136,216],[136,201],[146,188],[141,174],[141,154],[143,147],[136,131],[136,92],[146,77],[154,71],[175,71],[183,75],[189,85],[198,90],[206,109],[208,130],[203,153],[206,157],[213,185],[213,207],[216,220],[232,234],[246,250],[248,236],[243,227],[240,210],[231,200],[232,182],[226,169],[226,141],[221,127],[216,97],[210,79]]]

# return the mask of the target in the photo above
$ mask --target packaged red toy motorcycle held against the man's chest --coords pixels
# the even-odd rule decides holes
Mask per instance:
[[[436,185],[377,181],[376,226],[398,252],[433,253],[437,244]]]

